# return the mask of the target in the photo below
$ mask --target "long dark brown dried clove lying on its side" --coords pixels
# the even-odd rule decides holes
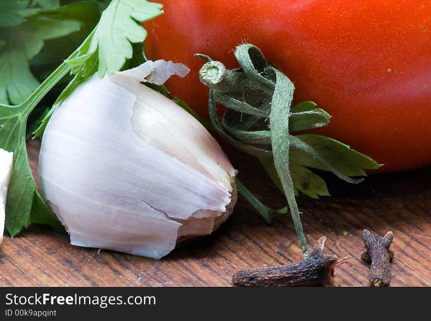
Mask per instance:
[[[273,268],[238,271],[232,278],[236,286],[335,286],[334,267],[347,261],[324,255],[326,236],[321,237],[309,257],[297,263]]]

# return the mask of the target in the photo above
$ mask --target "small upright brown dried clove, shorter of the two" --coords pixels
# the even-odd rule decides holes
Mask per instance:
[[[391,277],[390,262],[394,258],[394,253],[389,250],[394,237],[393,233],[389,231],[382,237],[363,230],[362,237],[367,250],[362,253],[361,258],[366,262],[371,262],[371,282],[374,286],[388,285]]]

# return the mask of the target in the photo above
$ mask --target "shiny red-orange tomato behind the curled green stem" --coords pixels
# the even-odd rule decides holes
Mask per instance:
[[[209,55],[238,66],[232,49],[253,43],[295,84],[294,103],[312,100],[333,118],[314,132],[385,164],[382,171],[431,165],[431,1],[160,0],[148,21],[149,59],[187,64],[166,84],[208,117],[200,84]]]

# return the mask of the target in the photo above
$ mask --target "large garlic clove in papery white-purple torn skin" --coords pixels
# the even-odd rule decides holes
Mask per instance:
[[[236,171],[216,140],[140,83],[184,69],[153,63],[144,73],[150,63],[93,75],[45,130],[42,194],[73,245],[160,258],[178,240],[213,232],[235,205]]]

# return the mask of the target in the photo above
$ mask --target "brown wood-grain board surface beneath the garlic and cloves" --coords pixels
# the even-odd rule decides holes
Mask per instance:
[[[39,142],[28,145],[37,174]],[[285,205],[260,165],[227,151],[239,178],[266,203]],[[298,198],[309,243],[328,237],[325,252],[348,256],[335,268],[340,286],[369,286],[362,262],[362,230],[394,233],[390,286],[431,286],[431,168],[373,175],[359,185],[328,178],[331,197]],[[347,235],[344,235],[347,232]],[[2,286],[230,286],[233,272],[301,259],[293,224],[279,215],[271,225],[239,197],[232,216],[213,235],[176,249],[161,260],[72,246],[67,235],[30,226],[5,235],[0,248]]]

